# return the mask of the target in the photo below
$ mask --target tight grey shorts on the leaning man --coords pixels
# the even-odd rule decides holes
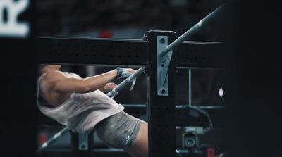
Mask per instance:
[[[99,139],[118,149],[132,146],[139,130],[140,120],[123,111],[111,115],[95,126]]]

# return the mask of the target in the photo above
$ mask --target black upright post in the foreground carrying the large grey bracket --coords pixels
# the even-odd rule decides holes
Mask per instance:
[[[175,55],[171,56],[168,67],[168,90],[162,89],[160,95],[158,86],[157,44],[158,37],[165,37],[167,43],[176,39],[176,33],[171,31],[147,32],[149,42],[149,77],[148,77],[148,119],[149,119],[149,156],[164,157],[176,155],[175,127],[175,92],[174,81],[176,73]],[[167,37],[167,38],[166,38]],[[162,38],[161,38],[162,39]],[[164,42],[164,41],[162,41]],[[175,51],[175,50],[173,50]],[[161,65],[163,66],[163,65]]]

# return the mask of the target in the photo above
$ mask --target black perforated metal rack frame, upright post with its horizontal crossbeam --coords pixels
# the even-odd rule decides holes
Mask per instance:
[[[220,42],[180,44],[173,50],[168,68],[169,95],[158,96],[156,41],[159,35],[168,36],[168,43],[176,39],[176,33],[171,31],[149,31],[145,40],[44,37],[37,41],[37,53],[39,63],[148,66],[149,154],[154,157],[175,156],[176,68],[221,68],[224,51],[223,44]],[[92,153],[92,149],[89,150]],[[78,150],[76,153],[85,154]]]

